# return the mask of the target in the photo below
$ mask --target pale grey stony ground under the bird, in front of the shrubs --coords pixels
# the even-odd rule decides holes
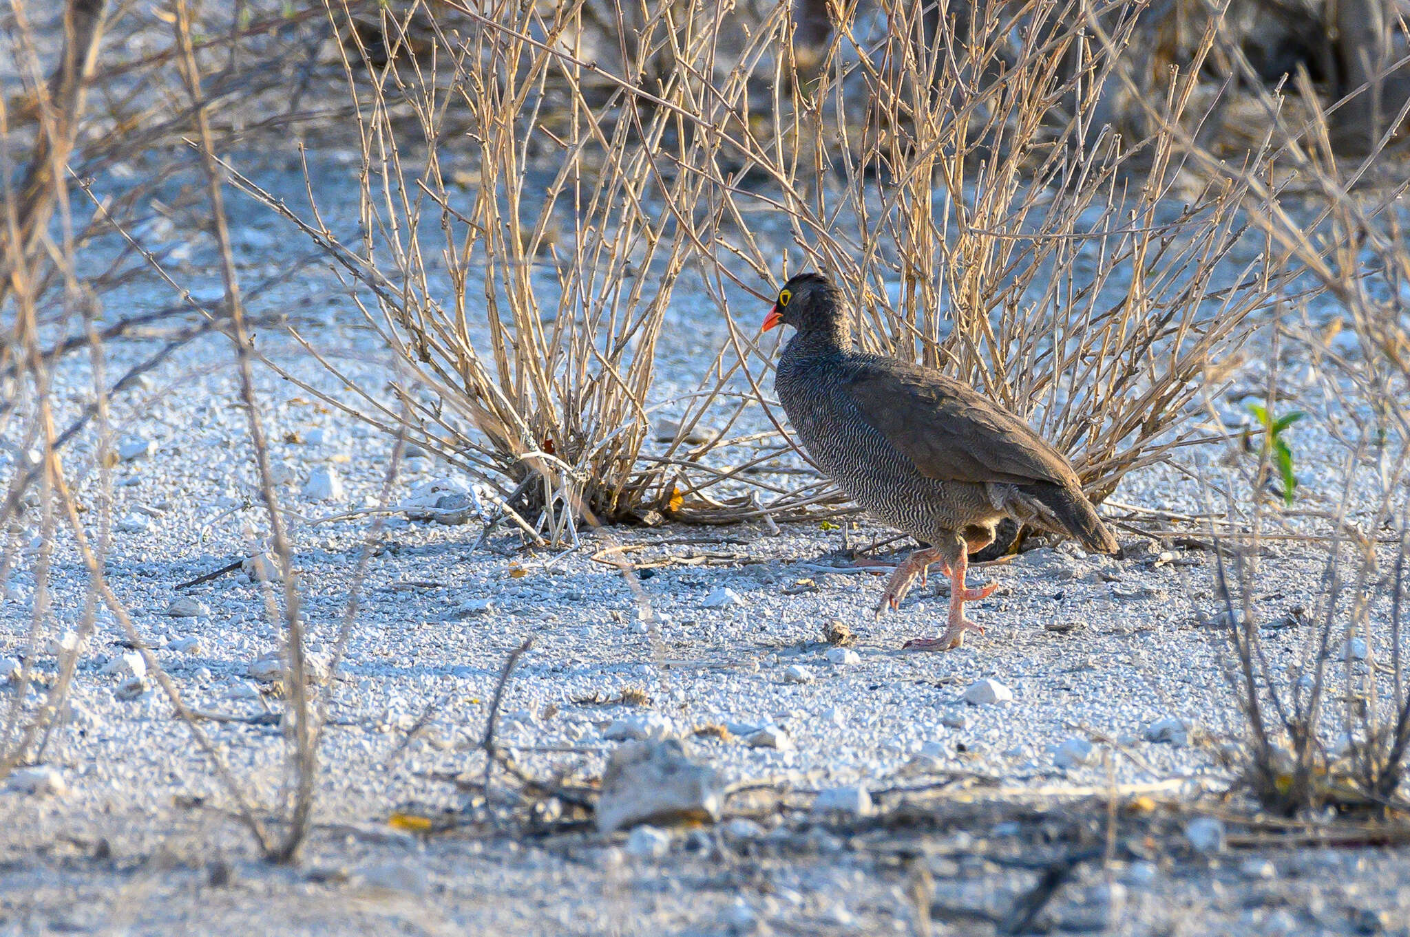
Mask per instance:
[[[285,235],[258,213],[237,211],[241,265],[255,276],[286,254]],[[210,268],[195,263],[189,273],[210,289]],[[681,328],[664,341],[663,395],[694,387],[701,344],[713,348],[721,334],[711,310],[682,293],[673,313]],[[169,302],[130,299],[133,309]],[[254,311],[271,309],[290,313],[368,386],[385,375],[384,356],[327,278],[281,287]],[[109,348],[110,373],[149,354],[152,341]],[[278,333],[259,341],[281,364],[334,386]],[[1259,379],[1248,372],[1251,383]],[[87,382],[83,362],[70,362],[58,378],[59,403],[78,406]],[[264,527],[235,386],[228,345],[209,338],[117,404],[114,435],[151,441],[154,451],[113,471],[110,513],[124,533],[107,554],[107,575],[188,705],[248,717],[282,709],[247,674],[279,647],[258,585],[226,575],[183,590],[199,603],[195,616],[169,614],[176,583],[248,555],[251,531]],[[310,650],[326,655],[374,517],[310,521],[376,504],[392,444],[268,371],[259,372],[259,399],[276,440],[281,495],[302,517],[292,538]],[[1316,417],[1297,433],[1303,503],[1335,503],[1340,451]],[[87,465],[94,444],[92,434],[76,440],[69,465]],[[1190,461],[1213,465],[1218,455]],[[340,476],[343,500],[302,493],[320,468]],[[410,459],[393,502],[444,475],[454,478],[434,459]],[[78,492],[96,511],[97,475]],[[1117,497],[1175,511],[1206,503],[1197,480],[1166,469],[1138,473]],[[863,523],[853,537],[887,533]],[[1034,929],[1410,933],[1403,850],[1255,848],[1235,823],[1222,852],[1198,854],[1186,841],[1187,820],[1214,809],[1201,795],[1232,781],[1217,744],[1241,731],[1225,631],[1208,624],[1221,607],[1210,554],[1162,557],[1124,531],[1131,550],[1118,561],[1060,547],[979,569],[976,579],[1000,583],[974,606],[984,638],[918,655],[900,647],[938,633],[945,597],[918,590],[873,621],[880,578],[829,571],[847,562],[842,531],[816,523],[784,526],[778,535],[752,524],[585,531],[571,552],[522,550],[506,530],[472,550],[479,534],[478,523],[396,516],[378,535],[344,664],[320,690],[329,726],[316,830],[288,868],[257,858],[165,697],[148,689],[125,699],[130,674],[109,666],[125,638],[102,613],[70,712],[44,752],[68,792],[0,792],[0,933],[918,934],[926,931],[912,895],[925,892],[926,876],[929,933],[993,933],[991,919],[1005,919],[1036,878],[1015,862],[1042,864],[1108,837],[1110,860],[1084,864]],[[23,562],[3,583],[3,659],[27,647],[37,535],[37,526],[21,533]],[[629,554],[637,565],[663,564],[640,579],[654,626],[642,624],[642,597],[622,573],[594,559],[622,544],[640,547]],[[1252,586],[1263,620],[1275,626],[1292,607],[1313,606],[1323,562],[1316,542],[1270,544]],[[52,610],[42,627],[55,637],[78,627],[85,602],[66,538],[48,575]],[[706,607],[722,588],[739,603]],[[856,633],[857,661],[825,657],[829,619]],[[729,782],[774,785],[783,809],[773,795],[739,798],[730,812],[757,826],[677,830],[654,857],[622,834],[478,823],[474,790],[455,779],[479,778],[477,747],[496,675],[526,637],[534,645],[509,685],[501,733],[527,769],[594,778],[618,744],[605,738],[612,723],[654,714],[687,736],[729,727],[736,738],[695,738],[697,757]],[[1308,630],[1269,627],[1265,640],[1280,669],[1297,659]],[[1382,650],[1386,641],[1378,635]],[[52,664],[45,652],[37,666],[52,674]],[[785,679],[792,666],[807,682]],[[964,703],[963,692],[984,678],[1008,686],[1012,702]],[[629,688],[650,702],[589,702]],[[0,696],[6,707],[10,699]],[[1190,744],[1148,741],[1146,727],[1160,719],[1186,721]],[[785,730],[794,747],[739,741],[764,724]],[[202,726],[247,796],[271,809],[282,802],[278,724]],[[1093,757],[1060,767],[1055,750],[1072,738],[1093,741]],[[902,800],[914,807],[885,824],[809,820],[815,792],[857,783],[885,810]],[[501,796],[506,786],[501,778]],[[1100,796],[1073,796],[1108,788],[1149,790],[1155,810],[1108,816]],[[422,838],[388,824],[398,810],[444,810],[468,826]],[[1222,810],[1248,816],[1249,806],[1235,798]]]

